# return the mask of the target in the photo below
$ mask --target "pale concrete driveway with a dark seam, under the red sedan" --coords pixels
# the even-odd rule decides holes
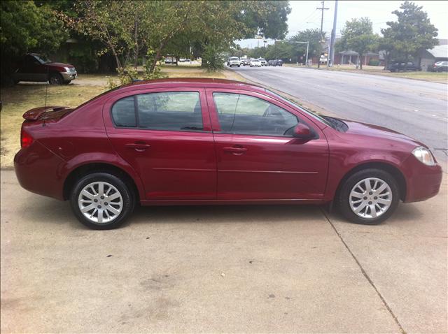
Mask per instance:
[[[138,208],[90,231],[1,171],[1,333],[447,332],[447,182],[358,226],[314,206]]]

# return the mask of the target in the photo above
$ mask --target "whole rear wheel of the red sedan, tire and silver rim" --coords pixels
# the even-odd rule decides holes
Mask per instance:
[[[109,173],[92,173],[73,187],[71,208],[85,226],[117,228],[131,215],[135,200],[130,187]]]

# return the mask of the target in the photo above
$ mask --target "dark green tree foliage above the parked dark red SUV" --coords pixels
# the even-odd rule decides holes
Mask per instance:
[[[1,80],[13,70],[13,62],[27,52],[48,55],[59,48],[68,34],[50,6],[36,7],[33,1],[0,3]]]

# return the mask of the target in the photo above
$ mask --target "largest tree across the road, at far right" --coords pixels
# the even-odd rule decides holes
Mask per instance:
[[[438,44],[437,29],[422,8],[413,2],[403,2],[401,10],[392,12],[397,15],[397,22],[387,22],[388,28],[381,30],[388,41],[393,41],[393,50],[398,57],[403,60],[419,57],[419,66],[421,52]]]

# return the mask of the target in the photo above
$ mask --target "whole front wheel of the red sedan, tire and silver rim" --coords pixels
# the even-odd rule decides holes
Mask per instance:
[[[391,217],[399,199],[400,191],[394,177],[372,168],[351,175],[342,185],[337,203],[349,221],[374,225]]]

